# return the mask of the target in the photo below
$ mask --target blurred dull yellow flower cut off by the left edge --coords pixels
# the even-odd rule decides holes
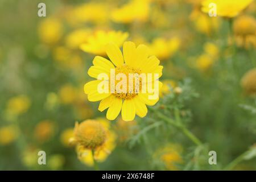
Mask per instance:
[[[0,128],[0,145],[6,145],[13,142],[18,137],[18,131],[15,126],[5,126]]]

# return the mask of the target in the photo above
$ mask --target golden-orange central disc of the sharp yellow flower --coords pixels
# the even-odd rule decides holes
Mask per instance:
[[[120,92],[117,90],[116,86],[120,82],[120,80],[115,80],[115,97],[129,100],[138,95],[138,92],[142,88],[142,81],[139,75],[141,74],[141,69],[129,67],[126,64],[123,64],[121,67],[115,68],[115,76],[119,73],[123,73],[126,76],[126,92]],[[129,73],[133,75],[133,77],[129,77]],[[137,73],[137,74],[136,74]],[[129,85],[133,85],[131,89],[129,89]],[[123,86],[120,86],[120,89],[123,89]]]

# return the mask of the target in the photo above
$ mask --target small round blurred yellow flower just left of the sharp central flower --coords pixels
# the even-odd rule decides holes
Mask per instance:
[[[71,84],[61,86],[59,90],[60,102],[63,104],[72,104],[77,97],[77,89]]]

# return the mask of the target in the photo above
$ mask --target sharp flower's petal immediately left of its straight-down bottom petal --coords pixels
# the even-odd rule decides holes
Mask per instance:
[[[119,98],[114,98],[112,104],[110,105],[107,111],[106,118],[109,120],[114,120],[115,118],[117,118],[121,109],[122,109],[122,100]]]

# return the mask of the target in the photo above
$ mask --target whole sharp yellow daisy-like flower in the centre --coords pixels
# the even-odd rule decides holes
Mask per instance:
[[[152,92],[150,93],[148,89],[141,90],[141,87],[154,85],[160,88],[162,83],[158,81],[158,78],[152,78],[151,80],[143,79],[144,81],[142,81],[136,75],[144,74],[147,77],[158,75],[158,77],[161,77],[163,67],[159,65],[160,61],[155,56],[148,57],[150,51],[147,46],[141,44],[136,48],[133,42],[125,42],[123,44],[123,54],[115,44],[110,43],[106,48],[106,53],[111,61],[100,56],[94,57],[93,66],[89,68],[88,75],[96,79],[102,73],[108,79],[110,76],[110,81],[103,81],[106,85],[109,84],[109,86],[105,90],[106,92],[100,93],[98,85],[102,84],[102,78],[86,83],[84,85],[84,92],[88,94],[88,100],[91,102],[101,101],[98,110],[104,111],[108,109],[106,118],[109,120],[117,118],[121,110],[122,119],[125,121],[133,121],[135,114],[139,117],[144,117],[147,114],[146,105],[155,105],[159,97],[157,88],[152,88],[152,92],[155,91],[155,97],[152,98]],[[110,72],[114,72],[114,74],[110,75]],[[133,78],[129,79],[129,74],[135,75],[135,78],[137,78],[136,85]],[[120,82],[111,81],[112,78],[120,75],[127,78],[122,81],[126,87],[120,87]],[[133,85],[131,86],[130,83],[133,83]],[[121,90],[118,89],[118,86]]]

